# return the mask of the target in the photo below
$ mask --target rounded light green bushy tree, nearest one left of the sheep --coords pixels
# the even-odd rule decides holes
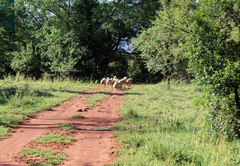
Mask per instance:
[[[74,43],[72,38],[74,33],[68,32],[63,34],[61,30],[55,27],[44,28],[43,34],[44,40],[39,46],[42,54],[42,58],[45,62],[42,70],[48,73],[55,73],[61,77],[69,76],[71,72],[76,71],[74,66],[79,60],[83,52],[83,48]],[[49,67],[49,70],[44,70]]]

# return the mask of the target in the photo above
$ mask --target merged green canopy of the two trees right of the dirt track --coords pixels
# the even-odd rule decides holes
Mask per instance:
[[[172,75],[186,62],[210,94],[209,128],[229,137],[240,134],[239,2],[163,0],[152,25],[133,41],[152,72]]]

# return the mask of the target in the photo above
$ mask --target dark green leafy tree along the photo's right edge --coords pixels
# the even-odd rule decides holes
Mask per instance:
[[[201,0],[194,12],[182,13],[178,28],[185,36],[189,72],[211,94],[211,127],[239,136],[239,0]],[[188,4],[182,5],[186,11]],[[226,125],[224,125],[226,124]]]

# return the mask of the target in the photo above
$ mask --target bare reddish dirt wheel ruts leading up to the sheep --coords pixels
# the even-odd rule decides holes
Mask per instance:
[[[87,112],[76,112],[86,107],[86,96],[93,95],[103,90],[100,87],[82,93],[80,97],[74,97],[64,101],[50,111],[38,112],[35,118],[22,125],[16,126],[16,133],[8,139],[0,141],[0,166],[21,166],[14,160],[14,156],[35,138],[45,135],[49,129],[57,127],[56,123],[73,123],[79,127],[73,136],[77,141],[68,148],[62,148],[68,156],[64,165],[68,166],[98,166],[110,164],[114,161],[111,149],[117,147],[113,131],[105,128],[116,124],[119,120],[118,109],[121,98],[126,90],[114,90],[106,92],[109,98],[102,100],[99,106],[89,109]],[[71,119],[71,115],[83,114],[84,119]]]

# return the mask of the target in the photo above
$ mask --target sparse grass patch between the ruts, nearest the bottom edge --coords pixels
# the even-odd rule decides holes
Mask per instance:
[[[53,152],[50,150],[35,149],[23,149],[21,150],[19,157],[31,158],[34,160],[30,165],[59,165],[63,164],[66,160],[66,154],[63,152]],[[40,160],[43,160],[39,162]]]

